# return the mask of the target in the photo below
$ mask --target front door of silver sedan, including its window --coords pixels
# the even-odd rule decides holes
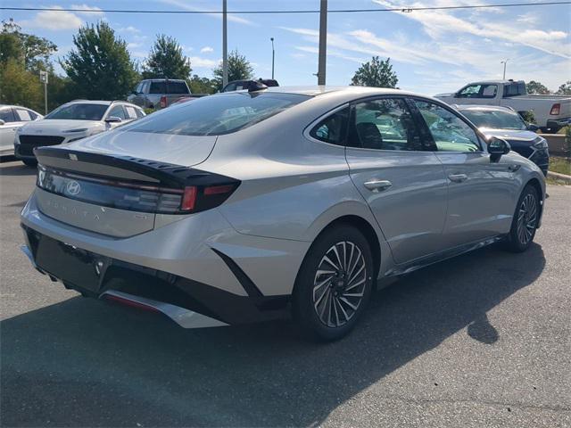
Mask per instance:
[[[448,185],[444,238],[447,246],[473,243],[509,230],[517,183],[513,165],[493,160],[484,139],[458,112],[415,99],[429,144],[443,163]]]

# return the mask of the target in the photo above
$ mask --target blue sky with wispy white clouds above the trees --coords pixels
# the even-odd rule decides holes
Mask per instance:
[[[506,0],[505,3],[517,3]],[[221,0],[46,1],[1,0],[4,6],[50,8],[219,10]],[[329,9],[490,4],[489,0],[329,0]],[[497,3],[497,2],[495,2]],[[228,0],[228,10],[319,9],[319,0],[268,2]],[[47,37],[62,56],[73,47],[80,25],[108,21],[139,62],[159,33],[176,37],[190,57],[193,73],[211,77],[221,58],[220,15],[86,12],[6,12],[21,27]],[[391,57],[402,89],[428,95],[458,89],[483,78],[539,80],[551,89],[571,79],[571,6],[514,7],[470,11],[330,13],[327,85],[348,85],[372,55]],[[276,78],[282,86],[314,85],[318,68],[319,14],[231,15],[228,49],[251,62],[256,77],[271,75],[271,42],[276,41]]]

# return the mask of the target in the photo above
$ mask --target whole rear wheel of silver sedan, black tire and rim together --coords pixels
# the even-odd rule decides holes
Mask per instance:
[[[334,247],[339,257],[331,261],[341,269],[324,260],[335,255]],[[357,272],[361,266],[363,272]],[[370,299],[374,271],[367,239],[355,227],[341,224],[319,235],[295,280],[292,309],[302,333],[327,342],[349,333]]]

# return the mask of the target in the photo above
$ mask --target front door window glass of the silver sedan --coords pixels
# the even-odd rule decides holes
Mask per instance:
[[[479,152],[476,132],[468,124],[434,103],[415,100],[439,152]]]

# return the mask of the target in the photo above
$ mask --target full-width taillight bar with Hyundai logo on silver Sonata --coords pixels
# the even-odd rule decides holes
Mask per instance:
[[[210,210],[225,202],[239,184],[229,177],[204,173],[196,185],[170,188],[79,176],[42,165],[37,169],[37,186],[46,192],[120,210],[161,214]]]

